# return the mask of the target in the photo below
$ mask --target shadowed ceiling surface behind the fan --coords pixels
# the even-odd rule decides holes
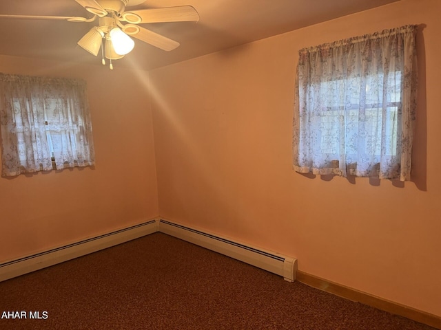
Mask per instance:
[[[192,5],[201,19],[195,22],[144,24],[154,32],[181,43],[165,52],[135,39],[135,48],[114,65],[136,63],[143,69],[161,67],[189,58],[267,38],[307,25],[399,0],[147,0],[131,10]],[[0,14],[91,17],[74,0],[0,0]],[[0,54],[96,63],[76,42],[94,23],[0,19]]]

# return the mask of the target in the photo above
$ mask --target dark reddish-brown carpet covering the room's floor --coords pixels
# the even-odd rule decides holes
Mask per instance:
[[[0,329],[433,329],[161,233],[4,281],[3,311],[27,318]]]

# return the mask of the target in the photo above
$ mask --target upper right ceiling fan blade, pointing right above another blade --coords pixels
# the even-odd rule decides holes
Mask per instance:
[[[122,16],[123,20],[135,24],[199,21],[199,14],[191,5],[134,10],[123,12]]]

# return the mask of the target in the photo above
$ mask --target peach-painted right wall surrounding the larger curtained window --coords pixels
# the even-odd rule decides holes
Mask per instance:
[[[440,13],[402,0],[150,72],[161,217],[441,316]],[[298,50],[406,24],[424,25],[414,181],[294,173]]]

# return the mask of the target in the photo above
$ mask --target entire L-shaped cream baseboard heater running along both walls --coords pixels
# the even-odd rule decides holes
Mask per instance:
[[[1,263],[0,282],[158,231],[278,274],[283,276],[286,281],[296,280],[297,260],[294,258],[161,219],[150,220],[59,248]]]

